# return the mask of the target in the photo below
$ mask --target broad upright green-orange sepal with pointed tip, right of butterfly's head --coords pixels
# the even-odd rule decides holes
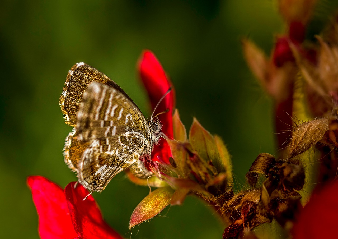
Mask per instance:
[[[194,118],[189,132],[192,149],[205,161],[220,161],[214,137]]]

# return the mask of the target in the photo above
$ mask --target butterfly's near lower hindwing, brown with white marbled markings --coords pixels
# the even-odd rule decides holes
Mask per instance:
[[[144,141],[138,132],[92,140],[78,164],[79,183],[90,191],[101,192],[116,174],[139,161]]]

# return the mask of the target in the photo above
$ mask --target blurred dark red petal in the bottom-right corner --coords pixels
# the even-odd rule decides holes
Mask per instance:
[[[315,191],[292,229],[294,239],[336,238],[338,180]]]

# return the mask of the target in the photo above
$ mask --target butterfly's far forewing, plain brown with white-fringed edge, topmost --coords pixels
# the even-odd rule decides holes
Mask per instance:
[[[121,87],[105,74],[83,62],[76,63],[68,72],[65,86],[59,100],[66,124],[75,126],[77,121],[76,115],[82,102],[82,95],[92,82],[99,82],[113,87],[135,105]],[[135,107],[137,108],[136,105]]]

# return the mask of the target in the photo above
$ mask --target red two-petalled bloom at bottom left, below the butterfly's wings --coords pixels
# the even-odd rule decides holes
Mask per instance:
[[[42,239],[121,239],[103,219],[94,198],[80,184],[65,190],[42,176],[27,179],[39,214]]]

